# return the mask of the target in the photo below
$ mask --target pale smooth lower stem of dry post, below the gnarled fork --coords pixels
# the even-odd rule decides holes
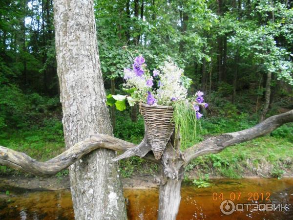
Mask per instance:
[[[158,220],[176,220],[180,205],[182,179],[167,179],[160,185]]]

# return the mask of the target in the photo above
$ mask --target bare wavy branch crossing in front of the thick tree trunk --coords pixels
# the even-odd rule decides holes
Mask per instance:
[[[53,159],[46,162],[39,162],[26,154],[0,146],[0,165],[5,165],[37,176],[48,176],[57,174],[85,154],[98,148],[125,152],[133,147],[134,144],[119,138],[106,134],[94,134],[84,141],[75,144],[73,147]],[[156,162],[154,156],[151,154],[147,154],[144,159]]]

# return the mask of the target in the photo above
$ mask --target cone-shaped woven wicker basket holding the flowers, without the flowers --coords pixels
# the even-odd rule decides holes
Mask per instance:
[[[149,106],[142,103],[140,111],[145,119],[151,150],[159,160],[175,128],[175,123],[171,121],[174,110],[169,106]]]

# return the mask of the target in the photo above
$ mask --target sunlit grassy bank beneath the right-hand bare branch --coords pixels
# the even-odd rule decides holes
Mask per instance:
[[[187,175],[209,174],[227,178],[243,176],[282,177],[293,174],[293,142],[272,136],[260,137],[192,160]]]

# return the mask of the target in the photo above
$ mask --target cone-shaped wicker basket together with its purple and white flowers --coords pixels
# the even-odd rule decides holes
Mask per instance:
[[[124,69],[124,79],[124,90],[130,95],[109,94],[107,104],[124,110],[126,99],[130,106],[139,103],[151,150],[159,160],[174,129],[180,126],[184,140],[188,124],[195,124],[203,116],[200,107],[208,106],[204,103],[204,93],[198,91],[188,98],[192,81],[171,60],[151,72],[146,68],[145,58],[138,56],[132,68]]]

